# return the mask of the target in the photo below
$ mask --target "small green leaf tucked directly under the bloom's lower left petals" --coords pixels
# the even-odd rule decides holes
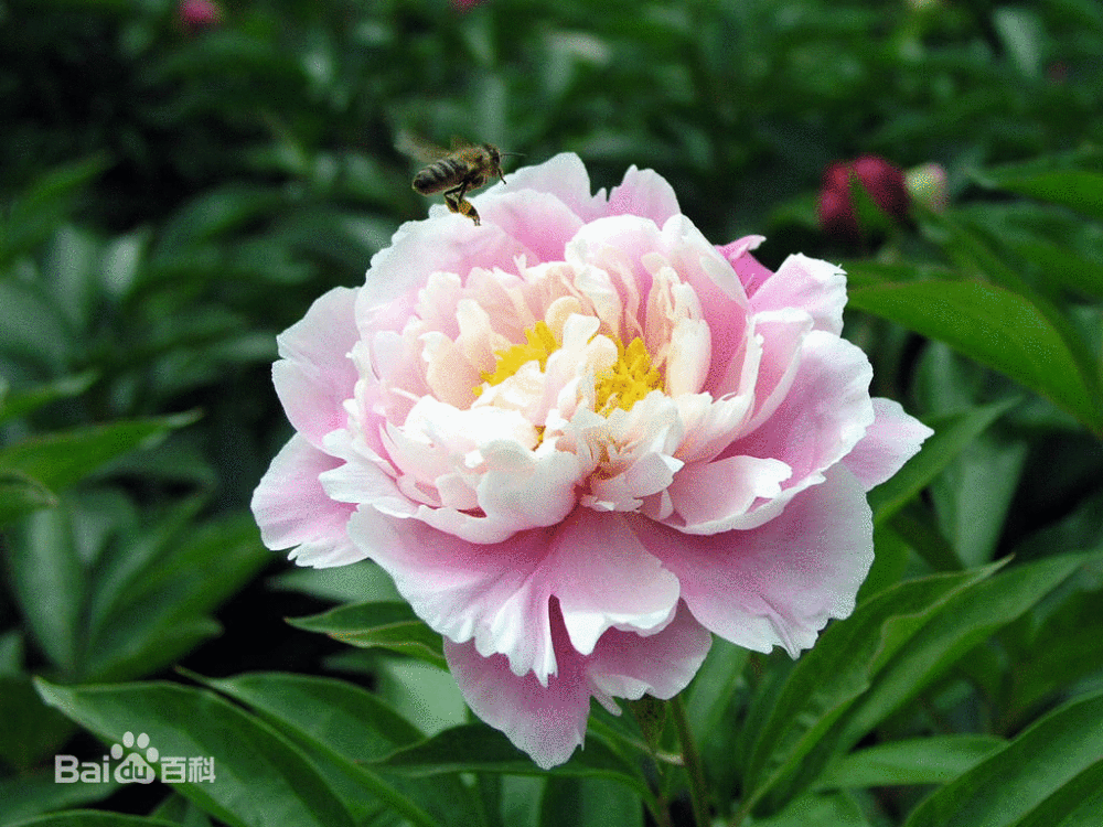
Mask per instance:
[[[352,646],[377,646],[448,668],[440,635],[407,603],[355,603],[309,617],[288,619],[288,623],[308,632],[323,632]]]

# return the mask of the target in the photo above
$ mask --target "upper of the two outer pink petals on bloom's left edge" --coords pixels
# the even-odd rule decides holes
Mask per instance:
[[[357,339],[355,301],[355,290],[334,288],[276,337],[282,357],[272,365],[276,394],[291,425],[315,448],[326,433],[344,427],[342,406],[356,385],[356,367],[349,358]]]

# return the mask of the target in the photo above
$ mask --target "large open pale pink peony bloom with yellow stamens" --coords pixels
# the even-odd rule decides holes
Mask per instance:
[[[710,633],[793,656],[872,561],[866,491],[930,429],[871,399],[844,273],[709,244],[572,154],[430,210],[279,337],[297,433],[253,500],[304,566],[375,560],[543,767],[590,698],[670,698]]]

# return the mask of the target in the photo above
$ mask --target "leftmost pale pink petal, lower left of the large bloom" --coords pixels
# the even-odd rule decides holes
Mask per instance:
[[[293,548],[292,560],[315,568],[344,566],[367,556],[345,531],[355,506],[331,500],[319,481],[341,462],[306,438],[291,437],[253,493],[250,507],[265,546]]]

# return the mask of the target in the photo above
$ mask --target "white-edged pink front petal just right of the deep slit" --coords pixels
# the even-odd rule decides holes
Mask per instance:
[[[576,509],[552,551],[553,591],[581,654],[593,652],[608,629],[654,632],[673,616],[677,578],[640,545],[620,514]]]

